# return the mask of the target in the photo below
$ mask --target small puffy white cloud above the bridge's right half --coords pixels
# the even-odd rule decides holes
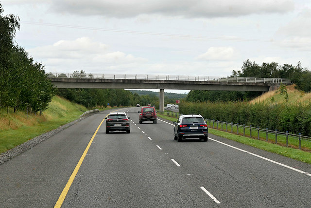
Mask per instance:
[[[237,53],[232,47],[210,47],[207,52],[201,54],[197,60],[232,60]]]

